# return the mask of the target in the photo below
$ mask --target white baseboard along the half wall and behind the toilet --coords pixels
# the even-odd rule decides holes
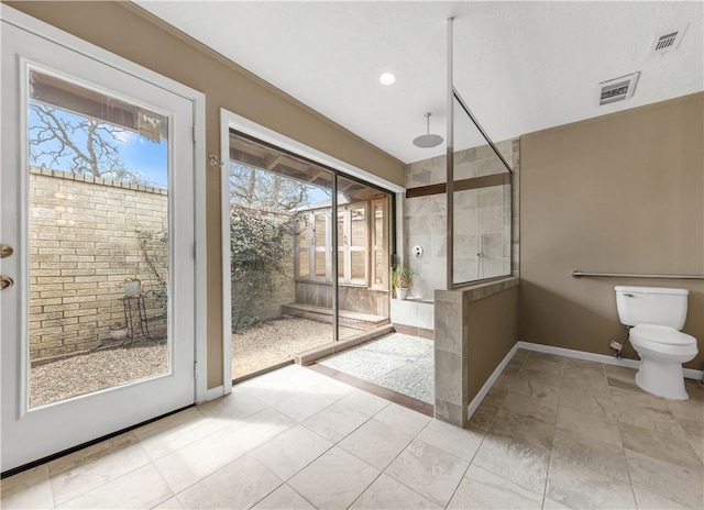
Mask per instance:
[[[538,353],[558,354],[560,356],[585,359],[588,362],[597,362],[605,365],[624,366],[628,368],[638,368],[638,366],[640,365],[640,362],[636,359],[618,359],[615,356],[608,356],[606,354],[586,353],[584,351],[574,351],[572,348],[554,347],[552,345],[534,344],[531,342],[518,341],[516,342],[516,345],[514,345],[513,348],[508,352],[508,354],[506,354],[502,363],[498,364],[490,378],[486,379],[486,382],[484,382],[482,389],[476,393],[476,397],[474,397],[474,399],[472,399],[472,401],[468,406],[468,420],[472,418],[472,414],[474,414],[476,408],[480,407],[480,403],[482,403],[482,400],[484,400],[484,397],[486,397],[488,390],[492,389],[492,386],[494,386],[496,379],[501,377],[502,372],[504,372],[504,368],[506,368],[506,365],[508,365],[508,362],[510,362],[510,358],[514,357],[514,354],[516,354],[516,351],[518,351],[519,348],[525,348],[526,351],[536,351]],[[702,378],[704,378],[704,370],[695,370],[694,368],[684,368],[683,370],[684,377],[686,377],[688,379],[702,380]]]

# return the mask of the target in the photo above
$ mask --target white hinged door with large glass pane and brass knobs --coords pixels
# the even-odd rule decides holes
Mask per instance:
[[[2,472],[195,401],[193,129],[2,21]]]

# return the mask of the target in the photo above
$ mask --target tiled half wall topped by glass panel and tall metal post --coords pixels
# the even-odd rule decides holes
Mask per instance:
[[[435,415],[464,428],[516,345],[518,278],[501,278],[481,291],[468,285],[512,270],[513,170],[453,86],[452,23],[449,19],[447,290],[435,292],[440,333]],[[513,162],[514,143],[506,143]]]

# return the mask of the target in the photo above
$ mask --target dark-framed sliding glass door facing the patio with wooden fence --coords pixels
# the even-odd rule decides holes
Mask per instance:
[[[389,193],[229,141],[233,379],[387,324]]]

